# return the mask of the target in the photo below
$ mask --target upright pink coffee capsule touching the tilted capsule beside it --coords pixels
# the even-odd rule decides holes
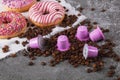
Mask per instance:
[[[86,26],[79,26],[77,29],[76,37],[80,41],[88,41],[89,33]]]

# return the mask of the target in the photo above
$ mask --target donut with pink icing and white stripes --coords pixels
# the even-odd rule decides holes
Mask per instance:
[[[62,5],[55,1],[41,1],[29,9],[30,20],[39,27],[59,24],[65,16]]]

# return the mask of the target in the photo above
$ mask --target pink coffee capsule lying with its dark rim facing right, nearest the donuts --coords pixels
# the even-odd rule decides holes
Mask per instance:
[[[44,44],[45,44],[45,40],[41,35],[38,35],[37,37],[30,39],[29,41],[29,47],[31,48],[39,48],[43,50]]]

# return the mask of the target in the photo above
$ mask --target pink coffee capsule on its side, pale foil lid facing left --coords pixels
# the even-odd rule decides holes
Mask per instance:
[[[85,59],[93,58],[98,56],[98,48],[94,46],[88,46],[88,44],[84,45],[83,48],[83,56]]]

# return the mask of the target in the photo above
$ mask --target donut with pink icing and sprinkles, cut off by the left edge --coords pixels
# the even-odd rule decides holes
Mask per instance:
[[[25,17],[14,11],[0,13],[0,38],[11,38],[24,33],[27,27]]]

